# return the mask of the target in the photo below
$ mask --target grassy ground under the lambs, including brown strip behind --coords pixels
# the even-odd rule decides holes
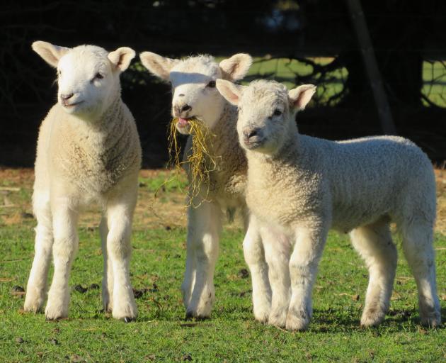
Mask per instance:
[[[438,288],[446,320],[446,174],[438,171],[439,223],[435,238]],[[418,325],[416,286],[402,254],[391,310],[379,328],[359,327],[367,269],[345,235],[331,233],[314,289],[314,317],[304,333],[262,325],[251,313],[251,283],[239,223],[225,225],[210,320],[184,320],[180,285],[185,261],[181,187],[168,172],[142,171],[133,233],[132,282],[139,318],[125,324],[101,312],[102,256],[98,213],[79,226],[80,247],[70,286],[67,320],[46,322],[23,313],[33,259],[29,169],[0,170],[1,362],[444,362],[445,324]],[[157,191],[156,199],[154,192]],[[399,250],[401,252],[401,250]],[[81,285],[83,293],[74,289]]]

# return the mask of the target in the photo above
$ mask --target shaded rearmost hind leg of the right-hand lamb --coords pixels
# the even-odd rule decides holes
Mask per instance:
[[[403,250],[418,288],[421,324],[441,324],[440,302],[435,281],[433,223],[413,221],[401,226]]]

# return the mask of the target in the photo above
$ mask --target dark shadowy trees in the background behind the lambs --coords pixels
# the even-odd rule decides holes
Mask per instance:
[[[446,1],[361,2],[396,133],[443,162],[446,103],[434,103],[421,90],[423,84],[442,90],[446,82]],[[319,87],[333,81],[333,70],[346,68],[342,91],[316,99],[299,114],[299,130],[333,140],[382,133],[343,0],[2,1],[0,29],[0,166],[33,165],[38,126],[56,101],[55,70],[31,50],[34,40],[108,50],[129,46],[168,57],[286,57],[311,66],[311,74],[295,74],[295,84]],[[333,58],[321,66],[313,57]],[[423,65],[434,61],[442,62],[444,73],[423,80]],[[162,167],[168,158],[170,87],[137,66],[121,79],[122,98],[137,120],[144,167]]]

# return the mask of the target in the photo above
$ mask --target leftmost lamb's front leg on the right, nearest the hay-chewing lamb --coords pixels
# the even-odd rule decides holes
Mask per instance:
[[[130,282],[130,235],[135,203],[136,191],[131,195],[129,192],[125,196],[109,199],[107,203],[107,253],[110,259],[108,266],[113,270],[113,289],[110,289],[113,294],[112,315],[113,318],[125,322],[137,317],[137,306]],[[110,272],[107,275],[109,274]]]

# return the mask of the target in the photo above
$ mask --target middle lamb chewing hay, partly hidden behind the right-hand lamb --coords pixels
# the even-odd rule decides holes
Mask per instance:
[[[222,62],[199,55],[185,60],[173,60],[151,52],[139,55],[144,67],[173,87],[172,115],[178,118],[178,132],[188,135],[189,120],[200,118],[215,134],[207,147],[216,156],[217,167],[210,173],[212,187],[202,186],[198,195],[191,196],[188,207],[188,236],[185,276],[181,286],[186,315],[196,318],[210,316],[215,300],[213,283],[217,262],[219,234],[222,229],[222,211],[227,208],[246,210],[246,158],[236,133],[237,110],[215,89],[215,79],[235,82],[245,76],[252,59],[236,54]],[[184,155],[188,155],[193,135],[188,138]],[[186,169],[188,169],[186,167]],[[270,301],[269,282],[263,247],[254,226],[248,228],[244,240],[246,259],[254,283],[254,314],[258,320],[268,318]],[[257,298],[258,297],[258,298]]]

